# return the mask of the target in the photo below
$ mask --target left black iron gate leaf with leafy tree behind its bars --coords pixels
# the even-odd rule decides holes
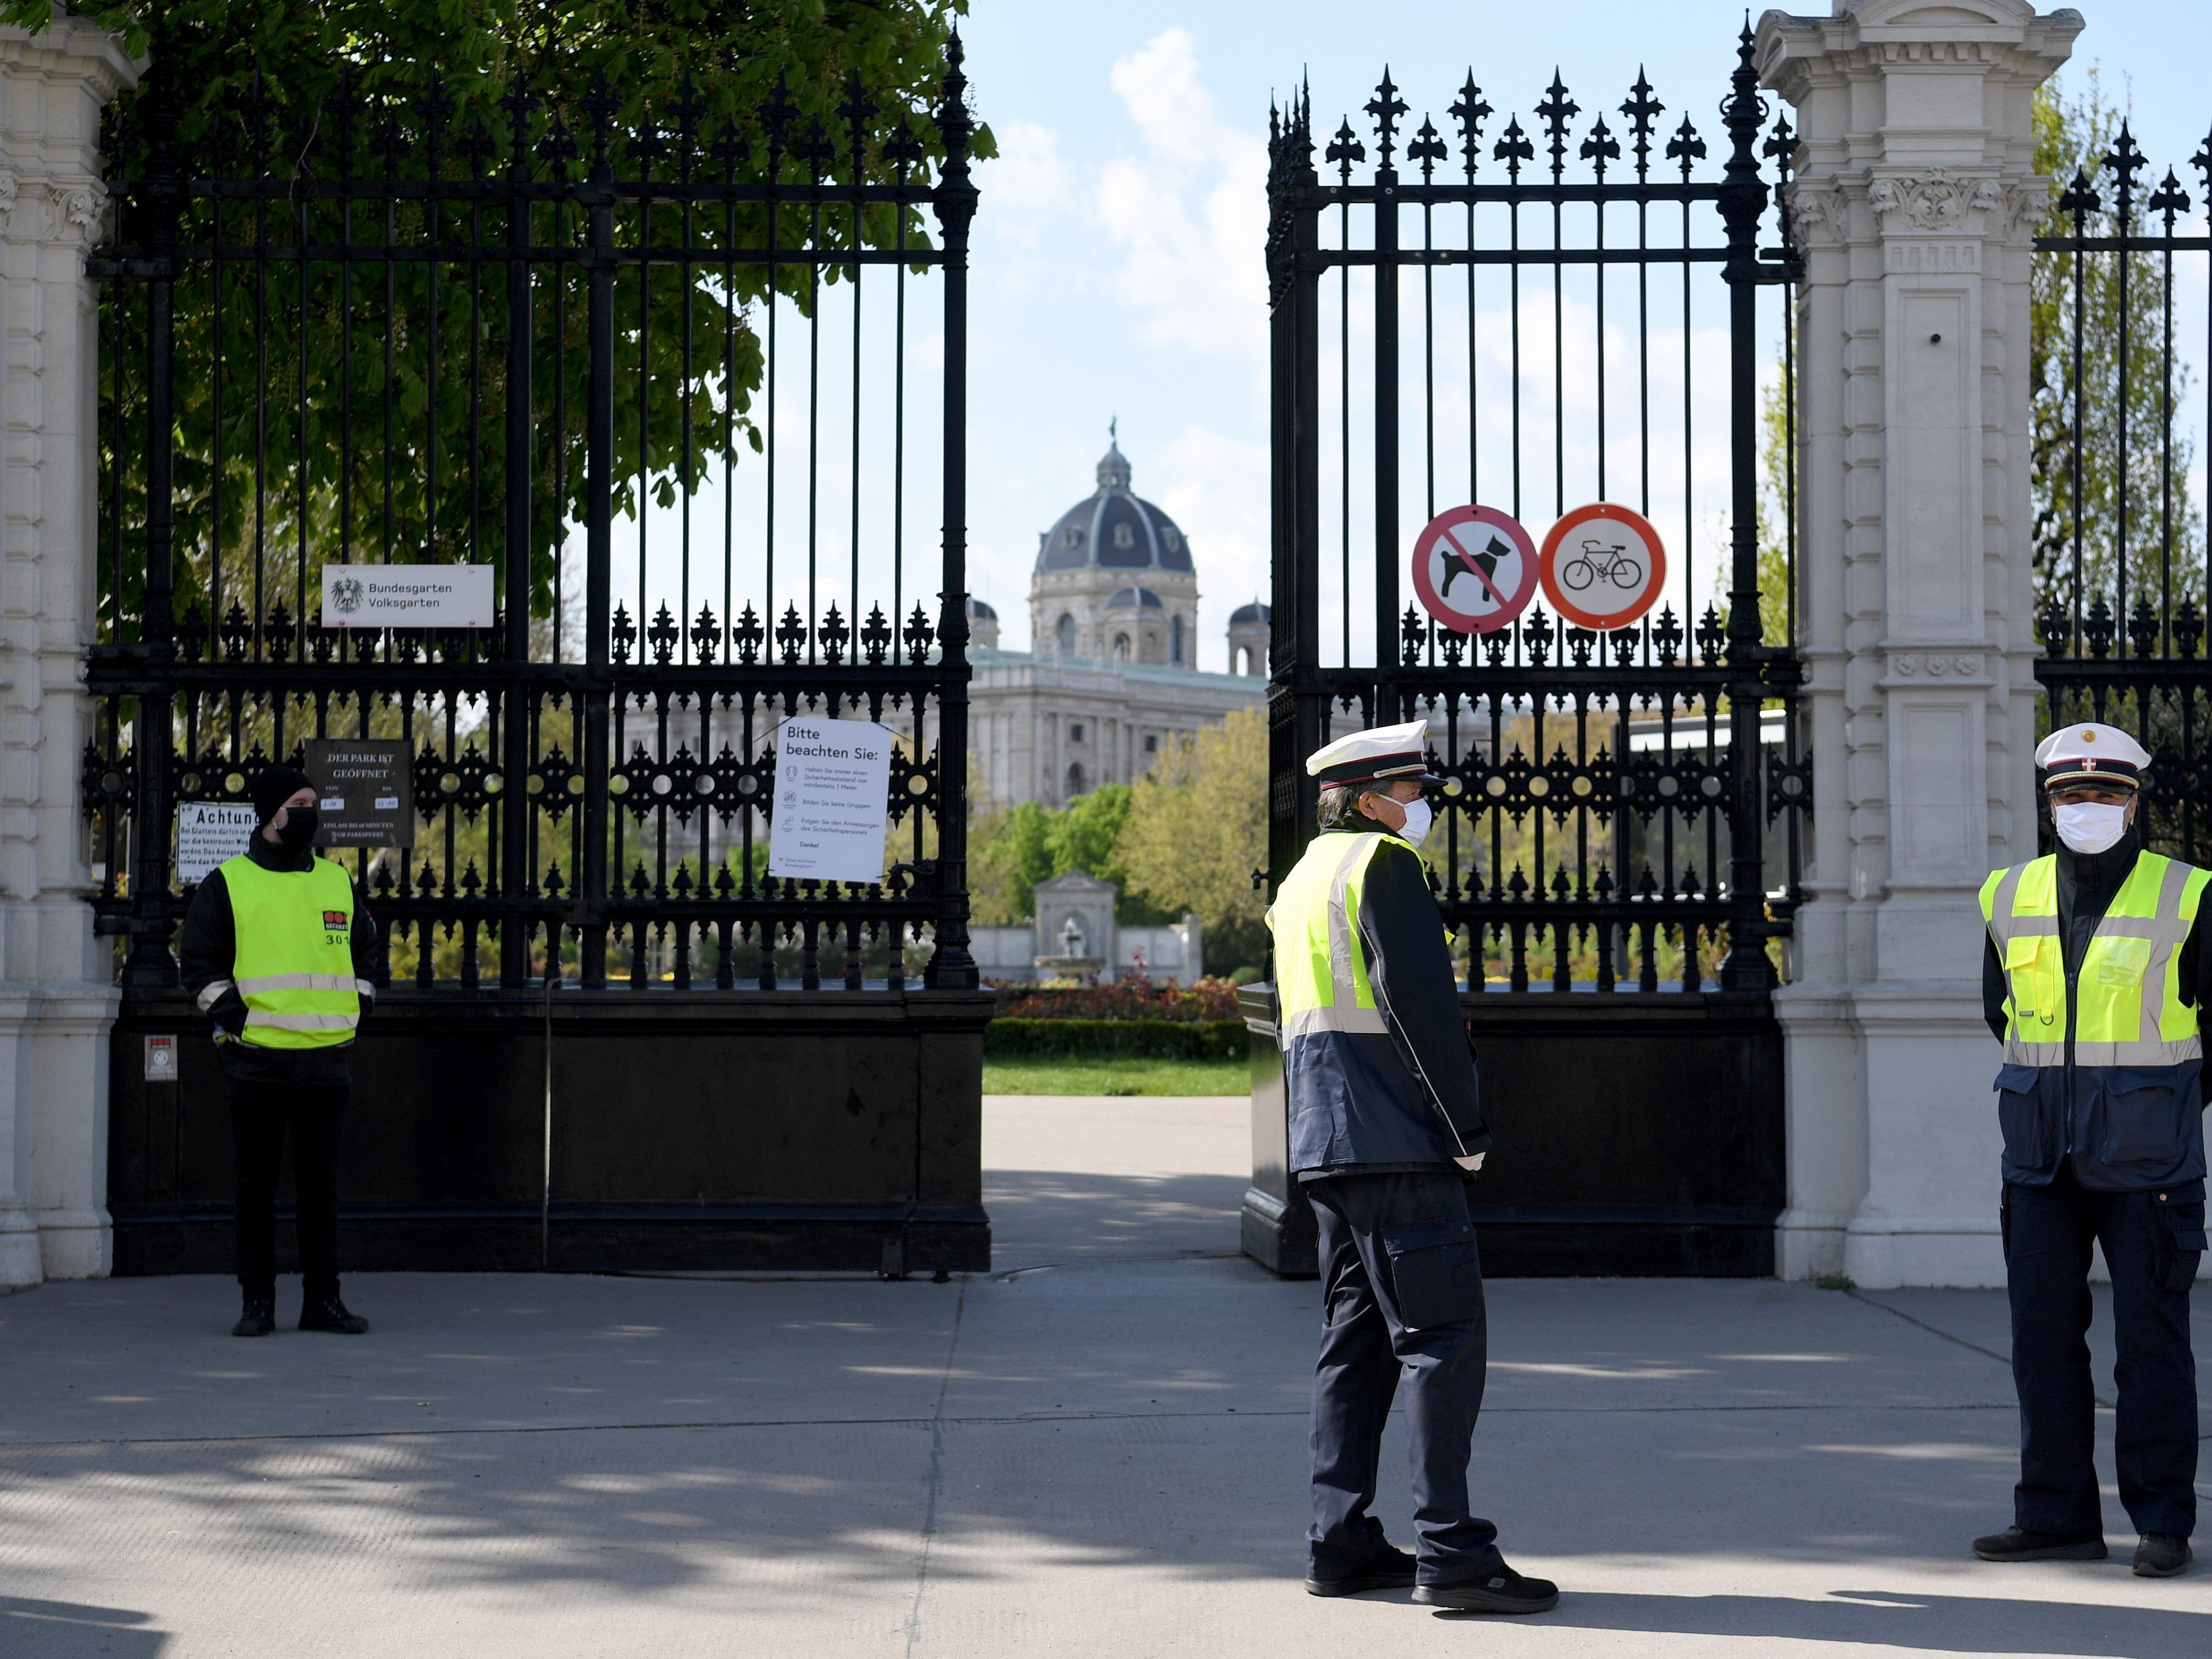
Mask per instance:
[[[405,991],[361,1066],[394,1133],[442,1115],[471,1164],[358,1148],[378,1239],[438,1212],[476,1241],[380,1259],[637,1261],[672,1221],[688,1243],[657,1259],[876,1265],[885,1225],[905,1259],[942,1223],[960,1241],[916,1248],[973,1265],[958,40],[931,102],[878,108],[854,80],[807,119],[787,91],[648,86],[624,58],[467,84],[272,69],[181,117],[155,58],[108,135],[119,217],[91,263],[84,810],[100,931],[128,940],[124,1270],[199,1261],[146,1239],[190,1239],[223,1186],[195,1150],[219,1133],[212,1055],[188,1044],[164,1095],[133,1053],[164,1024],[197,1042],[168,991],[177,807],[243,801],[323,737],[414,757],[414,845],[352,854]],[[332,562],[489,564],[495,624],[325,628]],[[768,872],[794,712],[898,732],[880,883]],[[624,1033],[657,1064],[599,1042]],[[566,1256],[562,1206],[591,1221]]]

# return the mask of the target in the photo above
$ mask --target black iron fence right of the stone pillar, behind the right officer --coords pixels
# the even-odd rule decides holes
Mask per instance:
[[[2154,757],[2148,841],[2212,856],[2212,535],[2190,500],[2181,301],[2212,312],[2212,137],[2146,192],[2121,122],[2057,192],[2035,239],[2035,577],[2044,730],[2079,719],[2135,732]],[[2203,226],[2203,230],[2192,230]],[[2212,365],[2212,316],[2199,345]],[[2048,836],[2048,827],[2046,827]]]

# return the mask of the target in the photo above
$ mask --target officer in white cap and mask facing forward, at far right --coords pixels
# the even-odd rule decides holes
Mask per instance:
[[[2135,1571],[2190,1564],[2197,1360],[2190,1283],[2205,1248],[2201,911],[2212,874],[2143,852],[2150,757],[2115,726],[2035,750],[2057,852],[1982,883],[1982,1002],[2004,1044],[2004,1270],[2020,1391],[2013,1526],[1984,1562],[2104,1559],[2093,1447],[2088,1265],[2104,1245],[2119,1345],[2119,1502]]]

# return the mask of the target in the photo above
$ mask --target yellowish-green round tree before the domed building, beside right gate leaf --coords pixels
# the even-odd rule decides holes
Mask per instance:
[[[1267,951],[1265,900],[1252,872],[1267,863],[1267,717],[1241,708],[1161,752],[1137,779],[1115,843],[1124,891],[1206,922],[1206,967],[1256,964]]]

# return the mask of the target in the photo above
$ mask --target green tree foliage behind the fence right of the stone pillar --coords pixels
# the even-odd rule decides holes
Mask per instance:
[[[2104,102],[2097,71],[2068,97],[2046,84],[2035,93],[2035,170],[2053,179],[2051,215],[2039,234],[2073,234],[2075,219],[2059,206],[2079,175],[2104,199],[2090,212],[2090,237],[2112,234],[2110,210],[2117,181],[2106,153],[2119,135],[2121,111]],[[2159,173],[2137,175],[2135,234],[2143,234],[2143,199]],[[2161,409],[2168,396],[2179,409],[2190,389],[2190,372],[2166,354],[2163,263],[2154,254],[2095,252],[2079,261],[2079,296],[2070,257],[2039,254],[2031,285],[2031,456],[2035,478],[2035,588],[2037,604],[2059,597],[2073,604],[2075,531],[2081,535],[2081,604],[2119,593],[2119,504],[2128,495],[2128,595],[2157,595],[2159,573],[2170,564],[2174,602],[2194,591],[2188,575],[2201,566],[2201,524],[2188,493],[2194,445],[2174,438],[2172,456],[2161,451]],[[2121,265],[2126,263],[2126,303]],[[2126,363],[2121,354],[2126,319]],[[2079,372],[2075,332],[2079,325]],[[2126,367],[2126,398],[2121,398]],[[2079,409],[2077,409],[2079,405]],[[2128,442],[2119,427],[2126,411]],[[2081,425],[2081,482],[2075,493],[2075,422]],[[2161,487],[2172,489],[2170,520],[2161,513]],[[2157,599],[2152,599],[2157,604]]]

